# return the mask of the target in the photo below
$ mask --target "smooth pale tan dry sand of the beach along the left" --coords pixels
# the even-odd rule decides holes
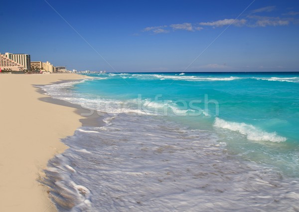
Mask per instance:
[[[0,74],[0,211],[53,212],[38,183],[47,161],[67,147],[61,138],[81,126],[75,108],[40,101],[33,85],[82,79],[77,74]]]

